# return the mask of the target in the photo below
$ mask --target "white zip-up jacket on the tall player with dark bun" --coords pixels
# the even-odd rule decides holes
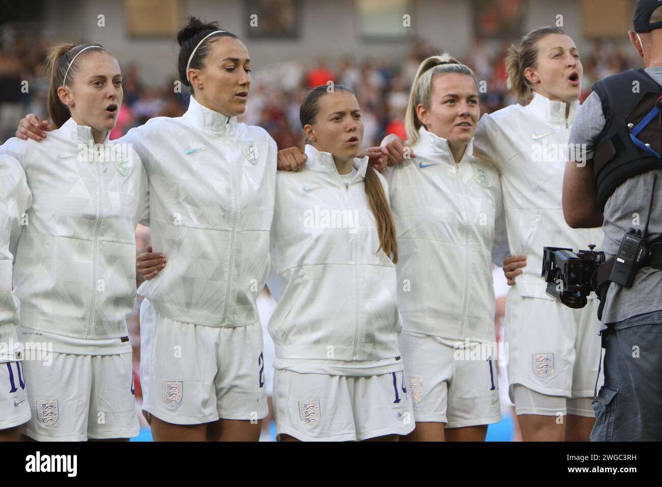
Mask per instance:
[[[269,273],[273,138],[191,97],[182,117],[151,119],[120,140],[146,168],[152,247],[168,260],[138,293],[185,323],[258,322],[256,299]]]

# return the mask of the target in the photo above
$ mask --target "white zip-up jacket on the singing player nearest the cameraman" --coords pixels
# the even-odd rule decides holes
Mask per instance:
[[[526,255],[524,272],[515,278],[520,296],[553,299],[540,277],[544,246],[575,251],[602,246],[602,229],[571,229],[563,218],[567,142],[579,101],[570,105],[567,118],[566,106],[534,93],[526,107],[510,105],[483,115],[474,138],[475,154],[501,173],[510,252]]]

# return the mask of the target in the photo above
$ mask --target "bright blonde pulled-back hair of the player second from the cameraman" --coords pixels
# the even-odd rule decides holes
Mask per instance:
[[[409,101],[407,109],[404,113],[404,130],[407,133],[407,143],[413,145],[418,142],[418,131],[423,126],[418,119],[416,107],[423,105],[426,108],[430,107],[430,99],[432,98],[432,81],[436,76],[442,74],[464,74],[470,76],[476,85],[476,75],[469,66],[461,64],[458,60],[451,57],[448,52],[444,52],[441,56],[430,56],[424,60],[412,83],[412,89],[409,93]]]

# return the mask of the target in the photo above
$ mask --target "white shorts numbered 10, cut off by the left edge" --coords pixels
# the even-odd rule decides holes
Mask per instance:
[[[0,429],[20,426],[30,419],[23,364],[21,361],[0,364]]]

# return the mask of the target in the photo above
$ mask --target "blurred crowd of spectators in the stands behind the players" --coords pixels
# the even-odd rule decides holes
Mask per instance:
[[[481,92],[481,110],[491,113],[515,103],[512,93],[506,86],[506,50],[514,40],[486,41],[475,39],[465,53],[451,52],[461,62],[473,68],[477,79],[485,81],[485,91]],[[50,42],[30,35],[17,37],[11,45],[0,44],[0,142],[14,135],[19,120],[26,113],[48,117],[46,97],[48,80],[43,62]],[[308,89],[333,81],[352,89],[362,111],[364,125],[363,146],[379,145],[381,139],[395,133],[404,135],[404,111],[408,101],[410,84],[422,60],[444,52],[443,46],[434,46],[423,40],[414,40],[404,59],[356,59],[351,55],[340,56],[337,60],[320,57],[312,65],[299,62],[287,63],[274,71],[273,67],[260,76],[260,66],[254,66],[254,76],[246,113],[240,121],[259,125],[275,139],[279,148],[303,147],[303,131],[299,125],[299,105]],[[641,65],[634,55],[634,49],[627,44],[611,41],[595,41],[588,51],[581,52],[584,66],[583,93],[585,99],[591,93],[594,81],[628,68]],[[118,115],[117,126],[111,139],[119,138],[132,127],[142,125],[152,117],[178,117],[183,115],[188,105],[188,90],[183,87],[177,93],[173,86],[175,76],[159,85],[147,85],[141,78],[140,66],[122,64],[124,101]],[[173,60],[174,63],[174,60]],[[174,68],[174,66],[173,66]],[[173,69],[174,72],[174,69]],[[282,75],[282,78],[281,78]],[[291,78],[291,82],[281,82]],[[137,251],[144,252],[150,243],[149,229],[138,227],[136,231]],[[495,279],[502,280],[502,273],[496,272]],[[138,276],[138,286],[140,285]],[[506,292],[507,286],[501,282],[497,298]],[[273,300],[262,296],[261,310],[263,321],[268,320],[273,309]],[[134,313],[128,318],[130,341],[134,347],[134,376],[136,398],[140,400],[140,323],[139,309],[142,298],[138,297]],[[497,299],[497,317],[500,321],[503,303]],[[499,311],[500,310],[500,311]],[[499,335],[497,327],[497,335]],[[265,354],[268,335],[265,334]],[[273,354],[273,351],[271,351]],[[505,376],[505,374],[500,374]],[[504,384],[504,390],[507,390]],[[507,395],[502,402],[507,402]],[[141,417],[142,419],[142,417]],[[265,421],[265,426],[269,421]]]

